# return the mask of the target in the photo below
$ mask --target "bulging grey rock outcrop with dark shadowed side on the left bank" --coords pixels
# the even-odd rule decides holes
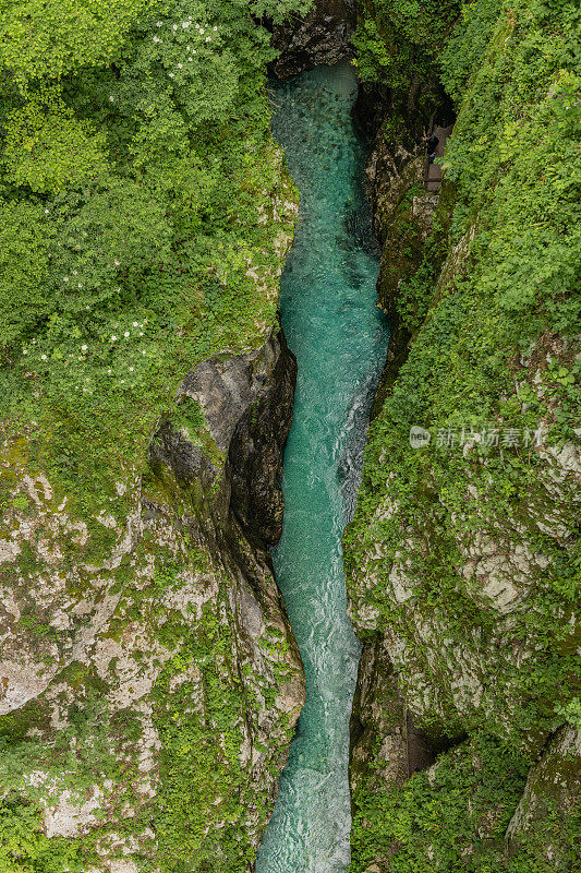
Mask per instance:
[[[187,412],[178,424],[165,421],[150,449],[153,465],[169,467],[184,487],[203,483],[222,524],[235,517],[245,536],[268,545],[282,533],[281,452],[295,378],[294,358],[278,328],[258,349],[209,358],[175,396],[179,412],[198,411],[205,423],[196,430]]]

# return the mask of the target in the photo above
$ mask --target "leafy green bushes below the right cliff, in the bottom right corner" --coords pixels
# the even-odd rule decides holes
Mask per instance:
[[[555,804],[526,844],[510,851],[505,844],[525,776],[524,761],[481,736],[444,756],[429,777],[415,774],[401,789],[361,791],[350,870],[359,873],[380,858],[389,859],[392,873],[572,871],[581,820],[562,815]]]

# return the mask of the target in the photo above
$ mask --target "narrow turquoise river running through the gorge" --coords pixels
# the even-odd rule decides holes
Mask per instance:
[[[306,672],[306,703],[256,873],[339,873],[349,864],[349,718],[360,646],[347,617],[341,535],[359,485],[387,325],[351,121],[348,64],[275,85],[274,131],[301,192],[281,284],[281,319],[299,376],[285,453],[275,572]]]

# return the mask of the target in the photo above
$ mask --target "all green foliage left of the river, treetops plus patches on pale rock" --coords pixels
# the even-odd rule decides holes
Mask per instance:
[[[81,551],[99,564],[112,548],[114,534],[96,516],[106,505],[114,523],[126,524],[154,428],[166,409],[175,412],[183,376],[203,357],[263,343],[275,324],[296,195],[270,136],[265,67],[274,53],[261,22],[308,5],[3,4],[0,418],[9,463],[0,468],[2,535],[10,535],[11,514],[32,517],[35,509],[13,497],[16,471],[47,475],[55,510],[66,503],[70,517],[87,526],[82,550],[66,542],[64,572]],[[194,430],[195,412],[187,422]],[[131,566],[113,567],[117,590],[126,585],[128,593],[111,636],[121,636],[145,597],[156,602],[157,587],[180,584],[158,547],[165,576],[156,565],[153,586],[134,587],[148,548],[142,541]],[[204,570],[205,561],[185,548],[178,569]],[[28,548],[3,578],[39,572]],[[86,584],[81,573],[74,584]],[[197,623],[154,610],[164,614],[164,642],[180,653],[153,692],[161,740],[155,804],[135,796],[135,753],[126,761],[138,718],[130,710],[111,715],[99,703],[105,683],[78,662],[59,673],[78,703],[66,730],[51,728],[43,699],[0,718],[2,873],[85,873],[98,858],[98,840],[108,838],[96,828],[81,839],[49,839],[41,822],[51,791],[46,781],[34,788],[32,770],[45,774],[52,794],[71,791],[80,803],[95,782],[114,786],[106,790],[116,818],[109,829],[129,842],[135,834],[142,841],[149,834],[150,842],[155,830],[144,869],[239,871],[252,860],[240,805],[251,782],[240,765],[240,723],[265,703],[246,699],[231,667],[222,600]],[[31,605],[19,626],[39,643],[62,644],[66,633],[44,624],[37,609]],[[177,693],[171,685],[192,662],[206,695],[204,719],[191,708],[192,686]],[[274,684],[278,679],[275,670]],[[27,738],[31,726],[50,741]],[[263,751],[267,760],[278,754],[276,743]],[[264,825],[264,797],[244,803]],[[135,817],[125,817],[128,804]]]

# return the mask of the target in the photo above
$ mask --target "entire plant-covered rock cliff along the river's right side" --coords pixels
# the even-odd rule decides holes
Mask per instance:
[[[521,266],[530,256],[541,273],[560,271],[564,300],[573,290],[566,261],[550,263],[532,238],[525,255],[518,223],[507,224],[512,199],[520,214],[528,199],[543,208],[543,181],[512,168],[518,146],[503,152],[507,129],[495,115],[497,70],[503,82],[518,79],[511,64],[525,51],[524,29],[503,17],[481,26],[492,26],[492,41],[459,92],[438,192],[425,190],[421,147],[423,131],[452,120],[437,91],[429,97],[428,84],[423,99],[394,103],[385,87],[367,86],[362,97],[376,130],[367,174],[383,244],[379,303],[392,333],[344,538],[350,612],[364,643],[352,719],[354,871],[404,861],[456,870],[460,858],[477,871],[574,869],[579,345],[570,321],[556,327],[549,289],[538,319],[522,285],[518,302],[505,302],[519,283],[509,252],[520,252]],[[459,26],[448,71],[473,33]],[[555,94],[545,81],[538,115],[553,111]],[[470,164],[484,118],[494,148]],[[567,130],[557,152],[548,136],[535,144],[540,167],[554,162],[550,172],[560,172],[571,159]]]

